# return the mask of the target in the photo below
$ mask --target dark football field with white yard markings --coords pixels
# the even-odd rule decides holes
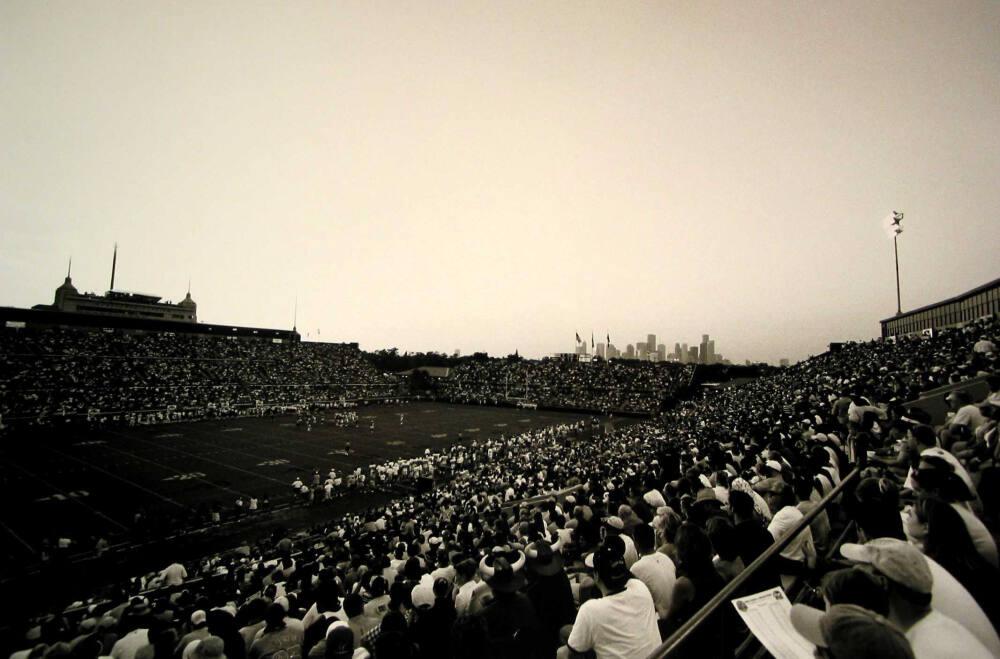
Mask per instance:
[[[37,556],[43,538],[61,535],[83,548],[92,537],[114,542],[129,536],[137,512],[165,529],[190,526],[196,507],[233,510],[238,498],[268,500],[266,513],[291,503],[292,482],[311,483],[316,469],[325,479],[331,468],[344,474],[449,446],[459,433],[471,441],[589,418],[444,403],[357,412],[356,428],[327,423],[311,431],[281,416],[10,433],[0,448],[4,554]],[[345,454],[348,442],[352,451]]]

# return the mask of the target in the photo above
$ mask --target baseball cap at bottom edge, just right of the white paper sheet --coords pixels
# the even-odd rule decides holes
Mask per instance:
[[[820,611],[795,604],[792,627],[813,645],[828,648],[835,657],[912,659],[913,649],[898,627],[877,613],[854,604],[834,604]]]

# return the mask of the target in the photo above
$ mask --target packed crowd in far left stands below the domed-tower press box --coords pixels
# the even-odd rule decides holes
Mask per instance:
[[[350,345],[0,329],[0,423],[160,423],[381,398],[395,378]]]

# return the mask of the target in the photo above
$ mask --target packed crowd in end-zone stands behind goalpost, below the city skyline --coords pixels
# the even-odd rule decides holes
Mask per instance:
[[[461,403],[523,400],[546,407],[651,413],[690,381],[692,369],[666,362],[488,359],[453,368],[442,395]]]

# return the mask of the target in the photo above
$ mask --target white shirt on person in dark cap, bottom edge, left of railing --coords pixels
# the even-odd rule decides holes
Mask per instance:
[[[649,589],[629,579],[622,592],[584,602],[567,644],[576,652],[593,650],[597,659],[648,657],[660,645]]]

